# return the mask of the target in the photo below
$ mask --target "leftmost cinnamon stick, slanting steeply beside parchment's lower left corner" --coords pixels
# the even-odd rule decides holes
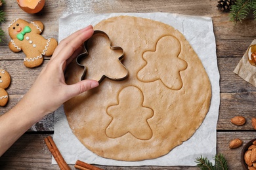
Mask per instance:
[[[58,150],[51,136],[48,136],[45,138],[45,144],[49,148],[50,152],[53,154],[53,157],[58,163],[58,166],[60,167],[60,169],[70,170],[70,167],[68,166],[68,164],[66,163],[62,155],[60,154],[60,151]]]

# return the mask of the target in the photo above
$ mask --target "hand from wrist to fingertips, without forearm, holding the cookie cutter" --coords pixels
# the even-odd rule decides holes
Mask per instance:
[[[81,44],[92,35],[93,27],[89,25],[62,40],[57,46],[49,63],[25,96],[32,105],[37,106],[37,110],[48,114],[75,95],[98,86],[96,80],[83,80],[77,84],[67,85],[64,79],[66,65],[81,53]]]

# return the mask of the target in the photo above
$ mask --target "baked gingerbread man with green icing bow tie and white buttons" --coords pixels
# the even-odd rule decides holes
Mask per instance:
[[[56,39],[45,39],[40,34],[43,31],[43,23],[39,21],[26,22],[16,18],[9,25],[11,41],[9,48],[13,52],[23,51],[26,54],[24,65],[37,67],[43,63],[43,56],[51,56],[58,45]]]

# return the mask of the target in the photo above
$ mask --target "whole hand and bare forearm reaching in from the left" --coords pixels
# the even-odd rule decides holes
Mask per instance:
[[[92,35],[93,27],[89,25],[61,41],[28,93],[0,116],[0,156],[43,116],[75,95],[98,86],[96,80],[67,85],[64,79],[66,65],[81,52],[81,44]]]

